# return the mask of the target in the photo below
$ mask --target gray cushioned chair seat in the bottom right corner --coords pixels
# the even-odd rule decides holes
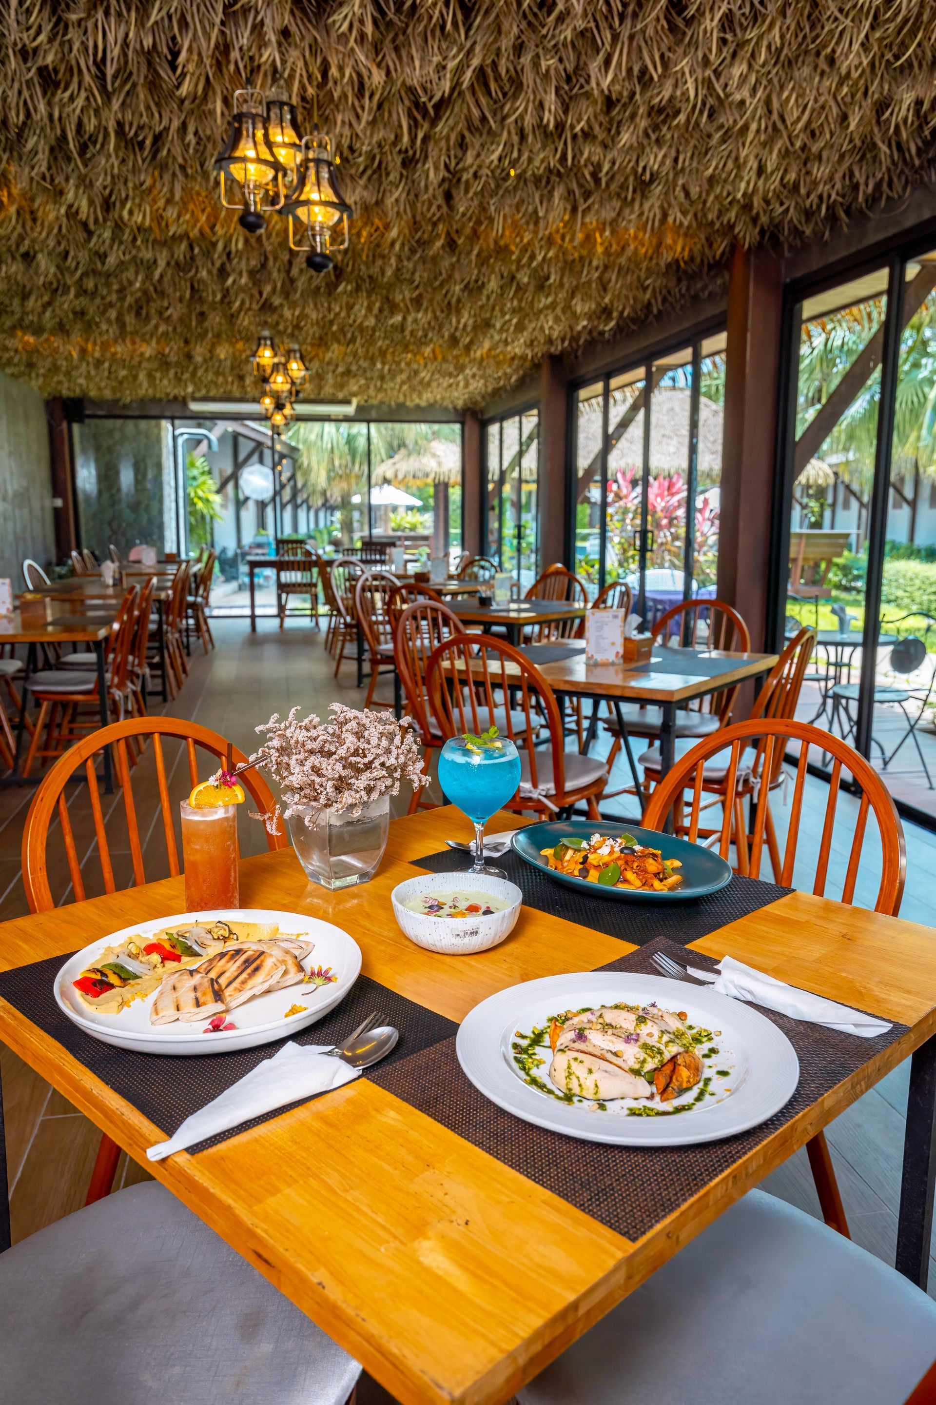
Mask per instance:
[[[521,1405],[902,1405],[936,1302],[752,1190],[519,1391]]]

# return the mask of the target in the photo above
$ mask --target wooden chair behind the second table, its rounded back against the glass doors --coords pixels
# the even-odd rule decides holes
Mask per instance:
[[[738,611],[724,600],[683,600],[667,610],[650,631],[654,639],[665,643],[672,624],[678,621],[679,638],[685,648],[726,649],[730,653],[747,653],[751,649],[751,632]],[[738,697],[740,684],[707,693],[696,698],[676,714],[675,736],[710,736],[726,726]],[[620,715],[629,736],[657,738],[662,725],[660,707],[622,707]],[[617,717],[605,722],[605,731],[615,740],[608,753],[608,764],[613,767],[623,745]],[[620,795],[622,791],[609,792]]]

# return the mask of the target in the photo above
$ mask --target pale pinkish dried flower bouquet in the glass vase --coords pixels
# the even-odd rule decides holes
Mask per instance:
[[[305,815],[312,828],[323,809],[359,815],[382,795],[399,795],[401,783],[428,785],[420,743],[410,718],[397,722],[389,712],[358,712],[331,702],[328,722],[314,712],[299,717],[295,707],[282,721],[278,712],[257,732],[267,740],[251,756],[279,785],[283,818]],[[267,816],[276,828],[279,806]]]

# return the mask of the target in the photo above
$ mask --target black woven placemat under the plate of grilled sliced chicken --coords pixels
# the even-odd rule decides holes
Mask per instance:
[[[299,1034],[290,1034],[288,1027],[283,1027],[283,1037],[275,1044],[262,1044],[258,1048],[232,1054],[209,1054],[206,1051],[203,1057],[135,1054],[132,1050],[115,1048],[91,1038],[62,1014],[55,1003],[53,986],[55,975],[65,961],[67,957],[51,957],[46,961],[35,961],[32,965],[0,972],[0,996],[58,1040],[69,1054],[73,1054],[79,1062],[108,1087],[112,1087],[115,1093],[119,1093],[132,1107],[149,1117],[167,1137],[178,1131],[185,1118],[196,1113],[199,1107],[219,1097],[232,1083],[250,1073],[265,1058],[276,1054],[289,1038],[293,1038],[296,1044],[340,1044],[361,1024],[366,1014],[380,1012],[385,1016],[383,1023],[393,1024],[400,1031],[400,1043],[396,1050],[387,1055],[382,1065],[377,1065],[377,1068],[387,1068],[397,1059],[411,1057],[420,1050],[449,1038],[456,1030],[456,1024],[446,1020],[445,1016],[425,1010],[421,1005],[379,985],[377,981],[361,975],[341,1005],[330,1014]],[[292,1002],[293,993],[283,991],[286,1005]],[[206,1045],[210,1038],[210,1034],[205,1035]],[[363,1076],[366,1078],[368,1072]],[[299,1107],[306,1102],[310,1099],[302,1097],[299,1102],[290,1103],[289,1107]],[[215,1146],[250,1127],[269,1121],[271,1117],[279,1117],[289,1107],[276,1107],[264,1113],[262,1117],[241,1123],[240,1127],[230,1131],[219,1132],[189,1149],[203,1151],[205,1146]]]

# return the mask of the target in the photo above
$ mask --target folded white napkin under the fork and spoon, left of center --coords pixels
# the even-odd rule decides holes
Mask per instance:
[[[210,1038],[210,1034],[208,1035]],[[359,1068],[351,1068],[342,1058],[326,1054],[330,1044],[283,1044],[278,1054],[264,1059],[251,1069],[237,1083],[232,1083],[227,1092],[208,1103],[198,1113],[187,1117],[174,1137],[167,1142],[157,1142],[146,1152],[150,1161],[163,1161],[174,1151],[194,1146],[195,1142],[213,1137],[215,1132],[226,1132],[240,1123],[269,1113],[274,1107],[285,1107],[286,1103],[296,1103],[300,1097],[312,1097],[313,1093],[326,1093],[331,1087],[341,1087],[358,1078]],[[208,1050],[205,1050],[208,1052]]]

